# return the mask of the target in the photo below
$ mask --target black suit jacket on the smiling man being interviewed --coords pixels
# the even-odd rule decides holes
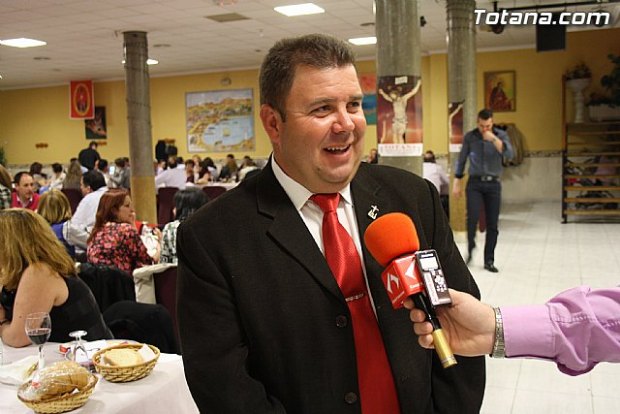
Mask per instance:
[[[408,214],[420,248],[437,250],[449,286],[479,296],[432,184],[363,163],[351,191],[362,235],[373,205],[379,215]],[[341,323],[347,304],[270,165],[184,221],[177,237],[181,346],[201,411],[361,412],[345,401],[358,394],[353,332]],[[408,312],[392,309],[383,269],[363,253],[402,414],[477,413],[484,359],[460,358],[444,370],[418,345]]]

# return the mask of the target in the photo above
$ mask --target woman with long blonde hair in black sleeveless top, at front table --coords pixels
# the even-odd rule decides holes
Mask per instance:
[[[89,341],[113,338],[93,294],[43,217],[20,208],[0,211],[0,246],[4,344],[30,345],[24,323],[34,312],[50,314],[52,342],[69,341],[69,332],[81,329]]]

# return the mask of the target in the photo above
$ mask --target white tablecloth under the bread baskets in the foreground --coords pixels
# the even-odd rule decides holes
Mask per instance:
[[[45,345],[45,361],[49,366],[62,358],[58,344]],[[4,363],[11,363],[28,355],[36,355],[37,348],[4,346]],[[198,408],[185,382],[180,355],[161,354],[151,374],[138,381],[112,383],[101,378],[86,405],[71,413],[198,413]],[[0,384],[0,413],[32,413],[17,399],[17,386]]]

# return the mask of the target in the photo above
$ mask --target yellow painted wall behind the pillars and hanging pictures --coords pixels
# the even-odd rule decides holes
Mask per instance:
[[[496,122],[513,122],[522,131],[528,151],[557,151],[561,146],[562,73],[579,61],[592,69],[593,85],[611,64],[608,53],[620,54],[620,29],[569,33],[567,50],[536,53],[532,49],[480,52],[477,56],[478,106],[483,105],[482,76],[485,71],[515,70],[517,110],[497,113]],[[359,62],[360,73],[374,71],[374,62]],[[220,85],[222,77],[232,80]],[[252,88],[256,151],[249,155],[263,158],[271,147],[258,118],[258,71],[185,75],[151,79],[153,147],[158,139],[174,138],[179,154],[191,156],[185,143],[185,93],[218,89]],[[447,66],[445,54],[422,59],[425,147],[438,154],[447,153]],[[86,147],[84,123],[69,119],[68,85],[0,91],[0,145],[10,164],[40,161],[68,162]],[[592,87],[590,88],[590,90]],[[599,88],[600,89],[600,88]],[[586,91],[588,92],[588,90]],[[96,82],[97,106],[106,107],[108,139],[99,148],[104,158],[113,160],[129,153],[125,87],[123,81]],[[569,102],[570,103],[570,102]],[[572,111],[569,111],[572,112]],[[571,114],[569,114],[570,116]],[[47,148],[36,148],[47,143]],[[366,152],[376,146],[376,128],[369,126]],[[216,159],[225,154],[200,154]],[[244,153],[236,154],[243,156]]]

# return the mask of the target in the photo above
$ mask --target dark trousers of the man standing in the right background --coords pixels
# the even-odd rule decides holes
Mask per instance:
[[[467,181],[467,249],[471,253],[476,247],[476,226],[480,218],[480,208],[484,206],[486,215],[487,235],[484,243],[484,263],[495,260],[497,245],[497,222],[502,196],[502,185],[499,181],[480,181],[470,177]]]

